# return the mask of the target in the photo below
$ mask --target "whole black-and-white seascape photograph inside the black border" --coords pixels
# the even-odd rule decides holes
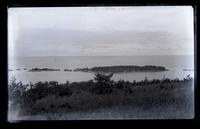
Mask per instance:
[[[8,8],[8,121],[193,119],[192,6]]]

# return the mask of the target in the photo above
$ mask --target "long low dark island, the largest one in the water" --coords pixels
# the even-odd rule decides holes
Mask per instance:
[[[73,71],[82,72],[103,72],[103,73],[121,73],[121,72],[160,72],[168,71],[162,66],[102,66],[102,67],[92,67],[92,68],[76,68]]]

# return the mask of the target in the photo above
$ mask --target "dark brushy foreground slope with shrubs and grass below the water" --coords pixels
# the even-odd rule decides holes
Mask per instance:
[[[191,107],[193,79],[113,81],[113,74],[96,73],[85,82],[56,81],[23,84],[12,79],[9,84],[11,108],[19,115],[84,112],[98,108],[131,105],[148,110],[152,107],[174,106],[188,111]],[[188,91],[190,94],[188,94]]]

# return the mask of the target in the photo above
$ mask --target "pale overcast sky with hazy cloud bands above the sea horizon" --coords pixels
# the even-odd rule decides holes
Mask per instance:
[[[9,56],[191,55],[193,8],[10,8]]]

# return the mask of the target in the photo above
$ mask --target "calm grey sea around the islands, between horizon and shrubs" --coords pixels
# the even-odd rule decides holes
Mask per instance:
[[[15,76],[18,81],[24,83],[38,81],[66,82],[87,81],[94,77],[92,73],[65,72],[64,69],[75,69],[95,66],[115,65],[159,65],[169,71],[164,72],[131,72],[114,74],[113,80],[143,80],[145,76],[150,79],[179,78],[182,79],[190,74],[194,77],[194,71],[183,71],[183,69],[194,69],[193,56],[68,56],[68,57],[15,57],[9,58],[9,78]],[[28,72],[31,68],[55,68],[61,71]],[[27,70],[24,70],[27,68]],[[16,70],[21,69],[21,70]]]

